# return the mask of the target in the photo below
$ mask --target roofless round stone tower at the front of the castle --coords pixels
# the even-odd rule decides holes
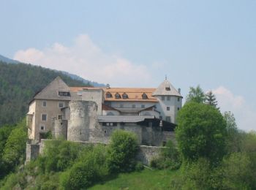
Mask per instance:
[[[67,140],[89,141],[90,129],[97,120],[96,102],[73,100],[69,102],[69,109]]]

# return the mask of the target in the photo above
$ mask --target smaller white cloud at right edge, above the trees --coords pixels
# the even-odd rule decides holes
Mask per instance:
[[[231,111],[236,118],[238,127],[245,131],[255,130],[256,111],[249,106],[243,96],[234,95],[227,88],[220,86],[213,90],[217,96],[222,112]]]

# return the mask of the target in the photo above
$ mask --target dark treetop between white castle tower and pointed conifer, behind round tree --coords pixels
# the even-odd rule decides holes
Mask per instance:
[[[189,95],[187,95],[186,102],[197,102],[203,103],[206,100],[206,95],[204,94],[202,88],[198,85],[196,88],[190,87]]]

